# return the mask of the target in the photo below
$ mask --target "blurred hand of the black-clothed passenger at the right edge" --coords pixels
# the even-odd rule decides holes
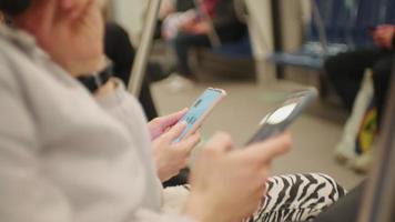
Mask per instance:
[[[377,47],[384,49],[393,48],[393,39],[395,36],[395,26],[382,24],[373,32],[373,40]]]

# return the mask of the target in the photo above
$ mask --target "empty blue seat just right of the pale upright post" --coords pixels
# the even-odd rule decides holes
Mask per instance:
[[[326,57],[346,51],[352,42],[352,9],[343,0],[315,0],[327,40],[326,52],[322,49],[316,21],[306,30],[306,42],[294,52],[275,52],[269,59],[277,64],[322,70]],[[312,18],[314,16],[312,14]]]

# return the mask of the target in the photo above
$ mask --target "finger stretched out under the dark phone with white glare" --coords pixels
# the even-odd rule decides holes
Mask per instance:
[[[276,138],[247,147],[247,149],[243,151],[243,155],[246,159],[256,160],[261,164],[266,164],[275,157],[282,155],[290,151],[291,144],[291,134],[283,133]]]

